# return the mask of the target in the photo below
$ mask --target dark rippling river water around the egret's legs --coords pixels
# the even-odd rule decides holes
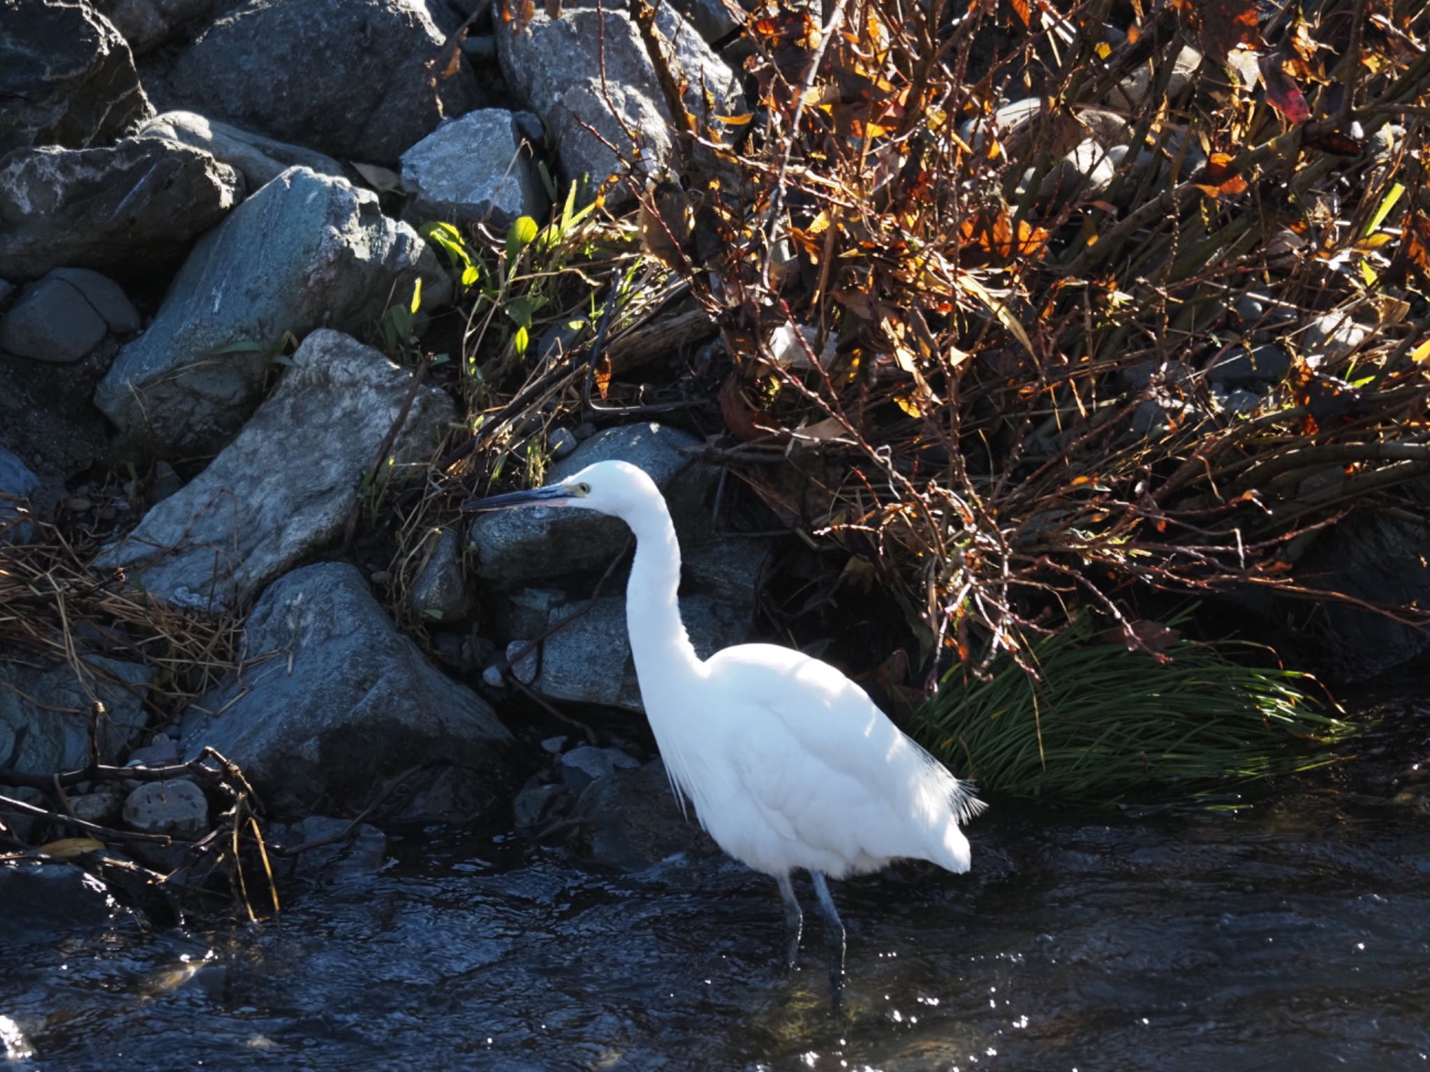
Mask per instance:
[[[0,1068],[1430,1069],[1403,750],[1234,812],[1004,805],[971,875],[835,883],[841,1019],[808,883],[786,975],[774,883],[722,858],[621,875],[413,830],[279,922],[34,932],[0,958]]]

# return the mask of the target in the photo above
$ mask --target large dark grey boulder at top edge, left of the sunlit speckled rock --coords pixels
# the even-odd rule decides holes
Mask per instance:
[[[438,0],[249,0],[174,60],[154,96],[342,157],[390,164],[482,103]]]

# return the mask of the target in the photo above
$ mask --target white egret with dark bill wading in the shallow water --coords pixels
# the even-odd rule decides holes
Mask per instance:
[[[661,490],[626,462],[463,509],[558,506],[619,517],[635,533],[626,627],[646,718],[671,788],[731,856],[779,885],[794,968],[804,916],[789,885],[802,868],[828,925],[829,983],[844,986],[844,925],[825,876],[921,859],[968,870],[960,829],[982,809],[970,786],[888,720],[858,685],[776,645],[701,659],[681,622],[681,549]]]

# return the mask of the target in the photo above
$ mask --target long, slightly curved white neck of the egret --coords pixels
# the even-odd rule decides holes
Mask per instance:
[[[675,599],[681,587],[681,545],[665,500],[654,495],[648,509],[628,519],[628,525],[635,533],[635,562],[626,585],[626,629],[649,712],[652,706],[664,706],[654,690],[681,689],[701,675],[702,663],[685,633]]]

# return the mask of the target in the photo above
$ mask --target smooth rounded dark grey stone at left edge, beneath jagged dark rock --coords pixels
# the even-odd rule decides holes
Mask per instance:
[[[30,283],[0,316],[0,350],[69,364],[110,332],[139,330],[139,313],[119,283],[89,269],[56,269]]]

